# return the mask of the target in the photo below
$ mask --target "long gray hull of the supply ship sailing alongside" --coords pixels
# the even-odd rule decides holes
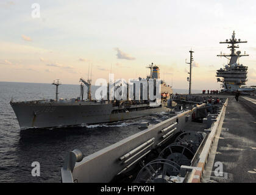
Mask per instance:
[[[11,102],[21,129],[78,126],[123,121],[155,113],[168,112],[162,107],[133,107],[132,112],[118,112],[112,104],[35,104]]]

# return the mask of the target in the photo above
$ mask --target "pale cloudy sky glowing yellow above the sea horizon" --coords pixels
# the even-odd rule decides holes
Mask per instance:
[[[40,5],[40,11],[33,4]],[[151,63],[173,88],[219,89],[216,69],[227,64],[231,38],[248,43],[247,85],[256,85],[255,1],[0,1],[0,81],[79,85],[88,78],[146,77]],[[38,12],[35,12],[38,11]],[[40,13],[40,15],[38,15]],[[89,75],[90,75],[89,74]]]

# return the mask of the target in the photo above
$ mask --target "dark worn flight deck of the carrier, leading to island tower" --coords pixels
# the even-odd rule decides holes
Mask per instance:
[[[219,96],[219,95],[218,95]],[[229,96],[201,182],[256,182],[256,97]],[[220,162],[220,163],[219,163]],[[222,165],[221,175],[216,176]]]

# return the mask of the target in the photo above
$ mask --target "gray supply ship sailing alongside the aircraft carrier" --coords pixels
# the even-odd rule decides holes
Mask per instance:
[[[151,75],[146,80],[153,79],[155,82],[156,79],[160,79],[160,69],[158,66],[154,66],[152,63],[147,68],[151,69]],[[11,101],[10,105],[15,112],[21,129],[122,121],[155,113],[168,112],[170,110],[166,105],[168,97],[172,94],[172,88],[163,80],[161,80],[161,103],[154,107],[150,105],[152,102],[144,101],[142,97],[140,97],[140,100],[135,100],[135,98],[130,99],[127,96],[127,100],[117,101],[116,99],[110,100],[109,94],[107,94],[107,100],[93,100],[91,98],[91,79],[85,81],[81,78],[80,82],[87,86],[86,100],[83,98],[84,85],[82,83],[80,85],[81,93],[79,98],[70,100],[59,99],[58,87],[60,83],[58,80],[52,83],[56,86],[55,100]]]

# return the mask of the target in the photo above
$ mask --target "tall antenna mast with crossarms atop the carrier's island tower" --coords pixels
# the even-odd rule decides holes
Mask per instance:
[[[236,63],[236,61],[243,56],[249,56],[246,54],[246,52],[244,52],[244,54],[241,55],[241,51],[237,51],[235,52],[235,48],[239,48],[238,43],[247,43],[247,41],[241,41],[240,38],[238,40],[236,40],[235,38],[235,30],[233,31],[232,34],[232,38],[230,38],[229,40],[226,40],[226,42],[219,42],[221,44],[231,44],[231,46],[227,46],[227,48],[230,48],[231,54],[227,55],[227,54],[221,54],[217,55],[218,57],[226,57],[226,59],[229,59],[229,65],[232,65],[233,63]]]

